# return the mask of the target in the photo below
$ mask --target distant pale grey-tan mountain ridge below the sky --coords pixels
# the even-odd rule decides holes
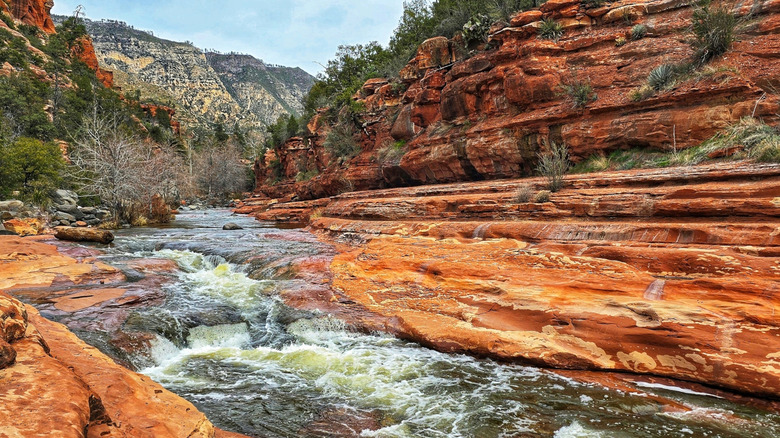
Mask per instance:
[[[64,17],[55,17],[63,19]],[[187,126],[214,122],[262,127],[299,112],[313,78],[300,69],[267,66],[245,55],[204,53],[118,21],[86,20],[99,65],[123,91],[175,104]]]

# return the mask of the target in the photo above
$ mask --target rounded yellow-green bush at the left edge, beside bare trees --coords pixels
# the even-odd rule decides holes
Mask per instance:
[[[64,162],[54,143],[20,137],[0,142],[0,197],[19,191],[25,201],[44,204],[60,181]]]

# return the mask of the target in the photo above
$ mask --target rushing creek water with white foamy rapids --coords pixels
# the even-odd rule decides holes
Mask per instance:
[[[222,231],[226,222],[243,231]],[[629,393],[554,372],[443,354],[290,309],[292,260],[329,249],[304,231],[225,211],[125,230],[103,259],[169,259],[164,300],[122,330],[151,348],[118,357],[192,401],[219,427],[257,437],[775,437],[780,417],[646,384]],[[131,281],[140,277],[125,269]],[[99,330],[77,331],[109,354]],[[653,395],[685,410],[669,411]]]

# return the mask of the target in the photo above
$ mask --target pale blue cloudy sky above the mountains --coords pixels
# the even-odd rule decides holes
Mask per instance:
[[[72,15],[78,5],[91,20],[125,21],[161,38],[311,74],[339,45],[386,45],[403,10],[403,0],[55,0],[52,13]]]

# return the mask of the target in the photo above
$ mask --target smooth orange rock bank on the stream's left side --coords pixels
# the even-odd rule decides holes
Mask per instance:
[[[0,236],[0,436],[233,436],[222,435],[191,403],[6,294],[116,277],[121,273],[94,259],[76,260],[30,238]],[[64,294],[57,306],[73,311],[124,292]]]

